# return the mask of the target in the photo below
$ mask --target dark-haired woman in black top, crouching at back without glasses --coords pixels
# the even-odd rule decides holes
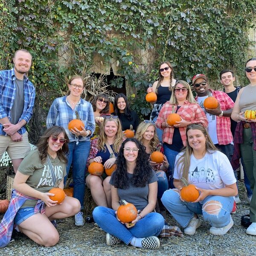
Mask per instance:
[[[112,113],[121,121],[122,131],[130,129],[132,125],[134,131],[136,131],[139,125],[139,116],[135,111],[131,111],[127,97],[123,93],[119,93],[115,97],[114,112]]]

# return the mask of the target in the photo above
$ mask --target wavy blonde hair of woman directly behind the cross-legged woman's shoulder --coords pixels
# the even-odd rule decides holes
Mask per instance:
[[[160,144],[160,141],[157,137],[157,129],[156,129],[156,125],[152,124],[152,123],[145,123],[144,121],[141,122],[139,124],[139,126],[137,127],[137,131],[135,134],[135,138],[141,143],[143,144],[143,134],[145,133],[145,131],[147,131],[149,126],[153,126],[154,127],[154,137],[150,140],[149,143],[149,148],[150,148],[150,152],[154,152],[156,150],[159,150],[159,148],[157,148],[157,146]]]

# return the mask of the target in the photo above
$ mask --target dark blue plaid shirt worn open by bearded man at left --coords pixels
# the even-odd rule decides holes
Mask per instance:
[[[10,119],[11,109],[16,94],[16,76],[14,68],[11,70],[0,71],[0,119],[8,117]],[[27,123],[31,119],[35,102],[35,87],[29,79],[24,76],[24,108],[19,122],[24,119]],[[3,125],[0,124],[0,135],[7,134],[3,131]],[[18,130],[19,134],[26,132],[25,126]]]

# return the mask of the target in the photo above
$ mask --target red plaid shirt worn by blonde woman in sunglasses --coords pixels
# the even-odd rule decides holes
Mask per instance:
[[[162,141],[168,144],[172,144],[172,137],[174,133],[173,127],[166,127],[162,128],[162,122],[166,122],[167,116],[169,116],[170,113],[172,113],[172,106],[169,101],[166,102],[162,109],[160,110],[160,113],[157,117],[156,125],[158,128],[163,130],[163,137]],[[177,105],[175,106],[175,111],[177,110]],[[180,115],[180,117],[188,122],[191,123],[202,123],[204,127],[207,127],[208,120],[207,117],[202,110],[202,108],[198,105],[198,103],[191,103],[188,100],[184,102],[184,105],[182,105],[179,110],[177,111],[177,114]],[[186,127],[179,127],[180,136],[183,142],[183,145],[186,146]]]

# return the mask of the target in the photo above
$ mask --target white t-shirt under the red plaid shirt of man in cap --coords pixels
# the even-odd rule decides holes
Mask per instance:
[[[217,117],[211,113],[208,113],[204,108],[204,100],[208,98],[208,96],[204,97],[198,97],[198,104],[203,109],[204,113],[206,114],[206,117],[208,119],[208,133],[210,135],[210,138],[212,139],[213,144],[218,144],[218,137],[217,137]]]

